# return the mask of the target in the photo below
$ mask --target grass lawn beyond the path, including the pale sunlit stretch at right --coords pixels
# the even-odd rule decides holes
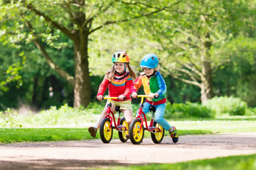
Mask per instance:
[[[218,132],[255,132],[256,116],[232,116],[215,120],[169,121],[176,126],[179,135],[213,134]],[[165,132],[165,135],[169,135]],[[150,133],[145,131],[145,137]],[[96,139],[100,139],[97,132]],[[113,138],[118,138],[114,130]],[[0,142],[40,142],[64,140],[90,140],[87,128],[0,128]]]

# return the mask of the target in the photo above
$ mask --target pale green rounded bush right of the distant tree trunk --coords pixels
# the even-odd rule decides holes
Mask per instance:
[[[215,110],[218,115],[245,115],[247,103],[240,98],[221,96],[210,99],[206,106]]]

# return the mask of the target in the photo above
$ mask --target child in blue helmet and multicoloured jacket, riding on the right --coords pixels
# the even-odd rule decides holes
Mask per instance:
[[[149,106],[156,108],[156,122],[159,123],[165,130],[169,130],[171,139],[174,143],[178,142],[178,133],[174,126],[164,119],[164,111],[166,109],[166,84],[163,77],[161,77],[159,69],[159,60],[156,55],[149,54],[142,58],[140,67],[142,72],[137,80],[132,84],[132,98],[137,98],[137,91],[143,85],[144,93],[149,95],[144,103],[142,111],[149,112]],[[159,96],[159,98],[154,98]]]

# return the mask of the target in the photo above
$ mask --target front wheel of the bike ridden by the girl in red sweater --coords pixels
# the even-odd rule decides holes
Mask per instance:
[[[112,140],[113,128],[110,125],[110,119],[104,118],[100,123],[100,138],[102,142],[109,143]]]

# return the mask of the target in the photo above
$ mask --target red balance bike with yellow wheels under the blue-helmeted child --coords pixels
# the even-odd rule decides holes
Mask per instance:
[[[144,106],[144,98],[149,96],[147,95],[138,95],[137,97],[141,97],[141,103],[139,104],[139,111],[137,117],[132,120],[132,123],[129,128],[129,136],[130,140],[134,145],[139,145],[144,138],[144,130],[148,130],[151,132],[151,139],[154,143],[159,144],[164,139],[164,128],[156,123],[154,120],[154,113],[156,112],[156,108],[154,106],[149,107],[149,111],[152,112],[151,121],[149,126],[146,122],[146,114],[142,111]],[[155,96],[157,98],[158,96]],[[144,128],[143,123],[145,123],[146,128]]]

